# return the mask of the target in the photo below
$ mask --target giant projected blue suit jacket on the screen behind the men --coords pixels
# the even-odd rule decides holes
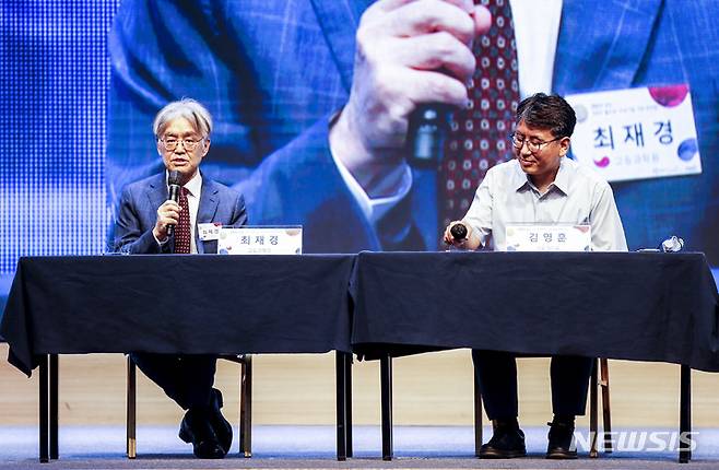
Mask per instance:
[[[632,248],[677,234],[719,263],[719,36],[710,24],[719,4],[624,3],[564,1],[554,92],[689,83],[704,173],[613,188]],[[304,225],[309,252],[390,246],[345,187],[327,138],[329,117],[349,95],[354,34],[367,4],[123,1],[109,42],[109,198],[158,169],[149,138],[154,113],[191,96],[216,126],[203,171],[241,189],[252,223]],[[435,173],[415,172],[408,200],[379,225],[391,237],[411,219],[422,238],[404,248],[436,249],[436,204]]]

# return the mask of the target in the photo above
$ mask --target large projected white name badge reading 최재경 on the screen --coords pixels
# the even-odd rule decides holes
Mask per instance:
[[[702,173],[687,85],[566,96],[577,113],[571,153],[608,181]]]

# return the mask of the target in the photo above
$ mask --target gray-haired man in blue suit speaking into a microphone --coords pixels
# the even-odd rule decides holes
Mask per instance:
[[[166,171],[128,185],[115,224],[115,248],[126,254],[216,252],[216,239],[201,239],[198,227],[236,227],[247,223],[243,196],[200,172],[210,151],[212,117],[195,99],[162,108],[153,131]],[[178,200],[169,184],[180,187]],[[187,410],[179,437],[199,458],[223,458],[232,445],[232,426],[222,415],[222,393],[213,388],[214,355],[135,353],[140,369]]]

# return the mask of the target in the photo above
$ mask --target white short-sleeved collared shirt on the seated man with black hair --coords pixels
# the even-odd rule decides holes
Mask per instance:
[[[567,157],[544,193],[517,160],[490,168],[474,193],[464,222],[483,247],[507,249],[508,224],[589,224],[593,251],[626,251],[626,238],[612,188],[590,169]]]

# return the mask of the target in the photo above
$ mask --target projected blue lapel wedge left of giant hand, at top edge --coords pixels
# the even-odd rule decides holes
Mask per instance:
[[[342,84],[347,93],[352,85],[354,67],[355,32],[360,17],[370,0],[313,0],[327,44],[334,56]]]

